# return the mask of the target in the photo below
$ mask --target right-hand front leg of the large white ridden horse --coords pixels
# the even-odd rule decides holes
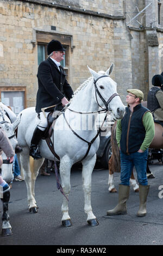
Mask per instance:
[[[91,206],[91,179],[92,171],[96,163],[96,154],[91,159],[83,160],[83,190],[84,190],[84,211],[87,214],[87,223],[89,225],[98,225],[96,216],[92,212]]]

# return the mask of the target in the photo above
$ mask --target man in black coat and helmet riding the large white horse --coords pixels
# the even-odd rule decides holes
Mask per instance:
[[[47,45],[48,58],[40,63],[37,80],[39,88],[36,96],[36,113],[39,117],[32,141],[30,144],[29,155],[34,159],[40,159],[41,155],[38,151],[39,142],[47,127],[47,115],[54,111],[54,106],[57,105],[55,110],[60,111],[71,99],[73,90],[66,80],[64,68],[60,65],[61,60],[64,59],[65,48],[58,40],[52,40]],[[53,106],[53,107],[51,107]],[[46,117],[41,111],[45,110]]]

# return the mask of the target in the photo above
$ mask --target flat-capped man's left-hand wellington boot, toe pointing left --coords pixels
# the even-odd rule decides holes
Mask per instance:
[[[107,215],[127,214],[126,202],[129,198],[130,186],[119,185],[119,198],[117,206],[107,211]]]

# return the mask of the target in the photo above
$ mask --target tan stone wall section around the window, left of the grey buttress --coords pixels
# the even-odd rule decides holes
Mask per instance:
[[[0,1],[0,86],[26,86],[28,107],[35,105],[37,90],[36,31],[54,33],[54,38],[55,33],[72,36],[74,48],[70,51],[69,81],[74,90],[90,76],[86,65],[98,71],[107,70],[114,62],[112,19],[57,9],[41,2],[43,1]],[[72,8],[87,6],[87,1],[72,2]],[[87,9],[103,13],[112,10],[112,4],[107,4],[110,9],[105,7],[106,1],[102,1],[103,4],[101,2],[99,9],[98,2],[101,1],[90,1]],[[55,32],[51,31],[52,25],[57,28]]]

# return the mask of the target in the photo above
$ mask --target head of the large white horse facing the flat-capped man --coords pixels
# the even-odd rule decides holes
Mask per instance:
[[[99,71],[98,73],[90,69],[95,85],[95,99],[100,107],[105,107],[106,109],[111,109],[114,113],[116,119],[123,118],[125,107],[117,94],[117,83],[111,79],[110,75],[113,69],[113,63],[110,68],[104,71]]]

